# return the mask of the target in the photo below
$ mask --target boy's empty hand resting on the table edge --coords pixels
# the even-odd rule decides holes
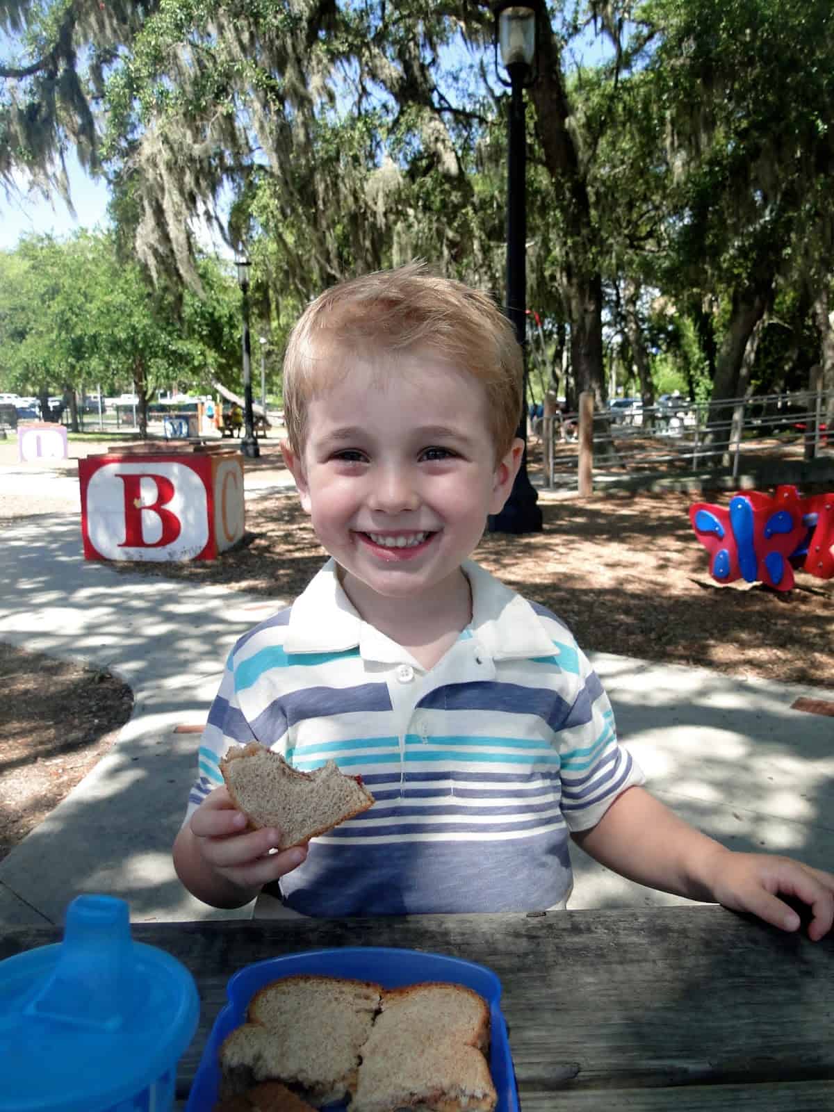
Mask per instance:
[[[715,900],[733,911],[751,912],[783,931],[797,931],[801,919],[778,895],[811,909],[808,937],[818,942],[834,923],[834,875],[791,857],[734,853],[721,847],[711,862]]]

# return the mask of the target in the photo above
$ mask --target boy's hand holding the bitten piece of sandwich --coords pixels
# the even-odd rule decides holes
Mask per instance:
[[[307,857],[307,846],[270,853],[280,841],[275,828],[249,831],[226,787],[208,795],[191,815],[191,833],[206,865],[242,891],[261,888],[291,872]]]

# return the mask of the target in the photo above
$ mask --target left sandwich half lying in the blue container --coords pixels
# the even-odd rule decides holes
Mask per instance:
[[[379,1007],[378,984],[289,976],[252,997],[247,1023],[220,1046],[222,1094],[276,1080],[317,1108],[356,1086],[359,1051]]]

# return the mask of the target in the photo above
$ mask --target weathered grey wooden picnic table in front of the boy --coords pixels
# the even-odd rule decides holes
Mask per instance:
[[[302,950],[374,945],[498,974],[524,1112],[834,1109],[834,941],[717,906],[135,924],[133,936],[177,956],[200,992],[182,1102],[231,973]],[[6,929],[0,959],[59,937]]]

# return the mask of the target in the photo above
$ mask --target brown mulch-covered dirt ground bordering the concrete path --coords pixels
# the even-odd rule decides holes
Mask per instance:
[[[85,445],[72,445],[81,455]],[[101,450],[100,447],[95,450]],[[267,441],[247,463],[258,483],[284,473]],[[2,453],[0,453],[0,457]],[[530,465],[535,473],[535,460]],[[75,460],[56,469],[72,474]],[[558,614],[586,649],[834,691],[834,579],[802,570],[791,592],[708,575],[687,516],[726,493],[610,493],[583,500],[543,494],[544,532],[487,534],[475,556]],[[67,513],[66,500],[60,510]],[[0,526],[59,512],[0,493]],[[247,495],[247,535],[214,563],[125,563],[117,569],[222,584],[288,599],[325,559],[292,490]],[[129,688],[106,674],[0,645],[0,856],[58,803],[112,744],[130,715]],[[43,683],[44,674],[50,683]]]

